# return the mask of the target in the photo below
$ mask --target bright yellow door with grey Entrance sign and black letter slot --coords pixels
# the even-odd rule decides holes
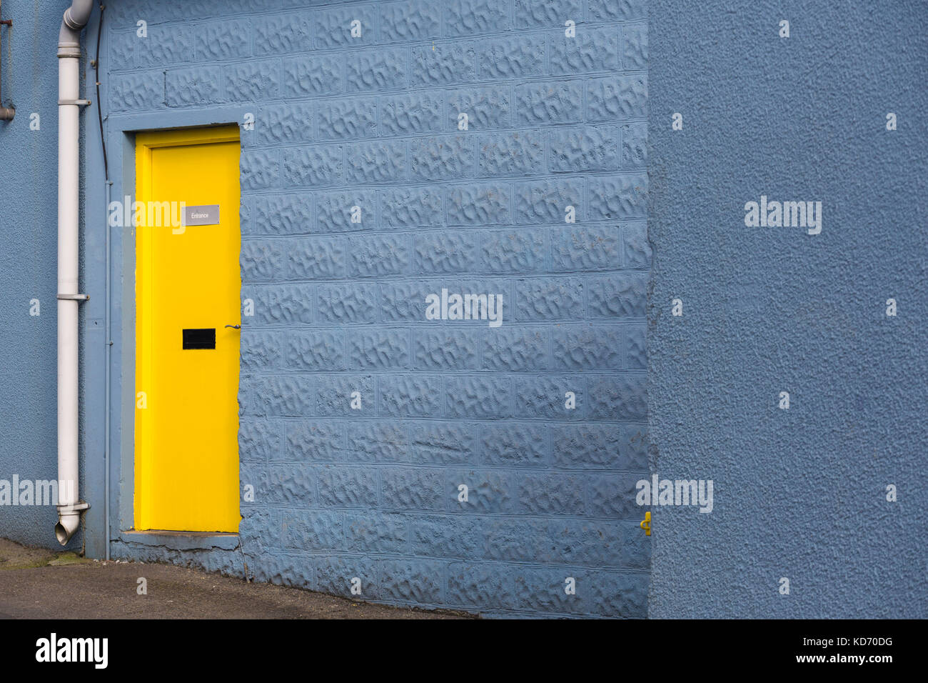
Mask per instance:
[[[238,532],[238,154],[234,125],[135,136],[137,530]]]

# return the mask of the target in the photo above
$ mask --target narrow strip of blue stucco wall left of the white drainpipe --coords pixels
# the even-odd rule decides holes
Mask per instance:
[[[6,0],[3,19],[13,25],[0,27],[3,105],[16,109],[13,121],[0,122],[0,479],[6,481],[58,478],[56,50],[63,11],[50,0]],[[32,113],[39,115],[38,130],[30,129]],[[38,316],[30,315],[32,299],[39,301]],[[57,519],[54,506],[0,506],[0,535],[57,546]],[[81,544],[78,532],[70,547]]]

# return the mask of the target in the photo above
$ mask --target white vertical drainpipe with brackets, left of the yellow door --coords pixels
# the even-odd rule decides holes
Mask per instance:
[[[67,545],[81,523],[77,465],[78,178],[81,30],[93,0],[73,0],[58,33],[58,543]]]

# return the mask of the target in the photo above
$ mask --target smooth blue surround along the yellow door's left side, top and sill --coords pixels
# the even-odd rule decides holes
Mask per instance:
[[[96,27],[92,27],[96,30]],[[88,67],[92,77],[93,69]],[[107,85],[103,85],[106,102]],[[232,550],[238,534],[134,532],[135,527],[135,229],[110,228],[108,223],[107,177],[102,146],[109,160],[110,200],[135,201],[135,134],[236,125],[241,154],[250,147],[248,129],[242,123],[253,114],[253,106],[218,106],[210,109],[157,112],[110,112],[105,114],[103,135],[97,125],[84,125],[82,291],[91,299],[81,309],[81,477],[85,499],[91,504],[84,513],[84,552],[89,558],[104,558],[108,539],[113,553],[145,552],[142,546],[172,549]],[[91,122],[94,123],[94,122]],[[244,190],[244,187],[243,187]],[[239,208],[240,211],[240,208]],[[106,233],[110,231],[110,338],[105,335],[107,307]],[[110,346],[110,404],[104,401],[105,348]],[[110,414],[110,490],[104,486],[106,446],[104,414]],[[109,493],[110,527],[105,523],[105,500]]]

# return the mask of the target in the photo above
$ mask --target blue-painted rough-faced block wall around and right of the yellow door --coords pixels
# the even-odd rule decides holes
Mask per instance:
[[[125,0],[107,21],[110,112],[254,116],[241,554],[117,550],[341,595],[357,577],[391,603],[645,616],[645,2]],[[428,320],[443,289],[502,296],[502,324]]]

